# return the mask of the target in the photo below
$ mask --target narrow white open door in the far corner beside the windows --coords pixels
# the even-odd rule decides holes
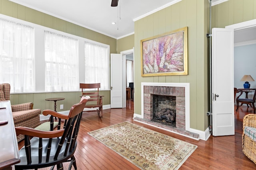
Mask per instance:
[[[110,54],[110,107],[122,108],[122,55]]]

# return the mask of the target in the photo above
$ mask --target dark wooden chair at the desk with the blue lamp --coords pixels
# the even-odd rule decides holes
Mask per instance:
[[[240,92],[240,95],[236,98],[236,111],[238,111],[238,108],[242,106],[243,104],[247,104],[247,107],[252,107],[253,112],[255,113],[255,100],[256,100],[256,88],[246,88],[246,89],[237,89],[238,92]],[[243,94],[243,92],[246,94],[245,98],[240,98],[240,96]],[[248,98],[248,93],[252,93],[251,98]]]

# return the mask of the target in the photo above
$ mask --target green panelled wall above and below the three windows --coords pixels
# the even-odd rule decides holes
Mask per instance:
[[[91,39],[93,41],[98,41],[100,43],[110,45],[110,53],[117,53],[117,41],[112,37],[108,37],[101,33],[92,31],[68,21],[61,20],[54,16],[44,14],[14,2],[0,0],[0,14],[84,37],[86,39]],[[45,101],[46,98],[64,97],[65,100],[57,102],[57,111],[65,111],[69,110],[73,104],[80,101],[80,94],[81,92],[12,94],[10,96],[10,101],[11,104],[33,102],[34,108],[41,109],[43,111],[44,109],[54,108],[54,102]],[[100,95],[104,96],[103,105],[110,104],[110,91],[101,91]],[[64,104],[64,109],[60,110],[60,104]]]

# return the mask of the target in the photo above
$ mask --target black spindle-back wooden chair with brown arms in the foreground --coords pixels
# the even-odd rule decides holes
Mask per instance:
[[[89,96],[82,97],[80,103],[71,107],[68,115],[52,110],[44,110],[43,115],[53,115],[66,119],[63,129],[56,131],[41,131],[28,127],[16,127],[16,135],[25,135],[25,146],[20,149],[20,163],[15,165],[16,170],[38,169],[57,165],[63,170],[63,162],[70,162],[69,170],[74,166],[76,170],[76,138],[79,131],[82,111]],[[30,139],[32,137],[32,139]]]

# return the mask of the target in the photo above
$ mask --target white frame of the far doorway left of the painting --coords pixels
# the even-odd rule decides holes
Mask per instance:
[[[120,54],[122,54],[123,59],[123,76],[122,76],[122,82],[123,82],[123,108],[126,107],[126,55],[133,53],[133,61],[134,61],[134,47],[132,49],[121,51]],[[134,62],[133,62],[133,69],[134,69]],[[134,70],[133,70],[134,73]],[[134,77],[134,75],[133,75]],[[134,81],[134,80],[133,80]]]

